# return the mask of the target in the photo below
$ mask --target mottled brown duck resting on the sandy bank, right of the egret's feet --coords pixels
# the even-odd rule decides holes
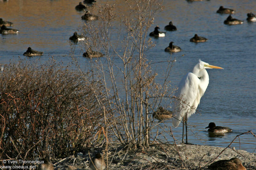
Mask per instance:
[[[246,170],[242,161],[236,157],[229,160],[218,160],[208,166],[210,170]]]

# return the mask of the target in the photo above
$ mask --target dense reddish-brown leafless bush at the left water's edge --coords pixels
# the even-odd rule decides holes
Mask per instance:
[[[6,65],[0,72],[0,160],[63,158],[90,145],[104,121],[97,102],[104,94],[86,76],[53,60]]]

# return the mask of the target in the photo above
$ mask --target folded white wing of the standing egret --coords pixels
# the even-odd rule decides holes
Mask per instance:
[[[175,93],[176,100],[173,105],[174,114],[172,118],[172,125],[173,127],[178,127],[182,117],[187,113],[188,116],[191,115],[191,111],[195,113],[195,108],[191,108],[194,106],[195,100],[198,98],[198,91],[199,91],[199,78],[189,72],[185,75],[178,86],[178,90]],[[200,98],[199,98],[200,101]],[[198,103],[196,106],[197,107]],[[192,109],[192,110],[191,110]]]

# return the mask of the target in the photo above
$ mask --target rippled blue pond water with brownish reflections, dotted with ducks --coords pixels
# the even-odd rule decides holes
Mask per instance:
[[[115,2],[122,8],[121,1]],[[19,56],[25,57],[22,54],[29,46],[44,52],[41,61],[48,60],[49,56],[64,63],[72,61],[68,38],[84,24],[81,20],[83,13],[75,10],[78,3],[75,0],[0,1],[0,17],[13,22],[13,28],[20,30],[18,35],[0,35],[0,63],[18,60]],[[97,5],[101,3],[99,0]],[[210,77],[208,88],[196,114],[188,119],[189,142],[226,147],[236,135],[247,130],[256,133],[256,22],[246,21],[247,13],[256,13],[256,1],[211,0],[188,3],[185,0],[164,0],[163,5],[164,11],[155,17],[155,24],[150,30],[153,31],[158,25],[160,31],[164,31],[164,26],[171,20],[178,30],[167,32],[164,38],[153,39],[156,47],[150,49],[147,56],[152,62],[164,61],[169,57],[164,48],[170,41],[181,47],[181,52],[172,55],[177,60],[170,75],[173,87],[179,84],[183,75],[192,71],[199,58],[224,68],[207,70]],[[216,13],[220,5],[236,10],[233,17],[245,20],[244,24],[224,25],[223,21],[228,15]],[[209,40],[197,44],[189,42],[195,33]],[[88,59],[82,57],[83,53],[81,44],[76,45],[74,56],[80,65],[88,63]],[[36,57],[29,60],[36,60]],[[153,65],[159,73],[158,81],[164,78],[163,65]],[[168,106],[168,103],[165,104]],[[227,126],[233,132],[209,136],[204,129],[209,122]],[[164,124],[168,127],[171,122],[166,121]],[[160,126],[164,127],[164,124],[160,123]],[[172,130],[175,138],[180,140],[182,126]],[[166,137],[172,141],[170,136]],[[239,140],[235,142],[231,147],[239,148]],[[240,142],[241,149],[254,152],[256,138],[251,134],[240,136]]]

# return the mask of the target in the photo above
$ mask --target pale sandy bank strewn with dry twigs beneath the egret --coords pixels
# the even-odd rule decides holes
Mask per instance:
[[[237,157],[247,170],[256,170],[256,153],[233,148],[224,150],[225,148],[221,147],[192,144],[177,144],[177,147],[175,144],[155,144],[149,148],[140,148],[136,151],[122,148],[118,144],[109,144],[108,169],[205,169],[208,164],[217,160]],[[89,152],[91,158],[96,152],[103,153],[105,161],[107,160],[105,147],[91,148],[84,151],[84,153],[78,153],[76,156],[53,160],[55,170],[90,169]],[[214,160],[215,158],[216,160]]]

